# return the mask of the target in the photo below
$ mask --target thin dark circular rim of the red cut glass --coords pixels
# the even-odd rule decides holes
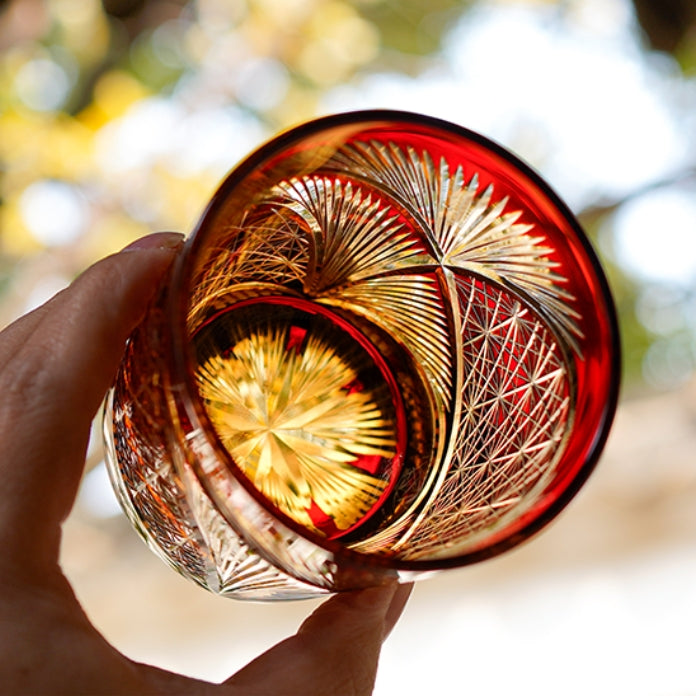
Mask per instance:
[[[367,126],[370,123],[377,124],[380,122],[401,124],[404,127],[425,127],[436,131],[438,134],[446,134],[449,137],[455,138],[461,141],[463,146],[467,143],[478,145],[485,151],[504,160],[504,162],[510,166],[516,175],[515,184],[517,186],[524,187],[531,185],[535,187],[541,196],[550,203],[551,207],[555,209],[564,220],[568,230],[572,232],[575,241],[581,245],[586,260],[591,266],[593,282],[598,289],[598,294],[602,297],[604,302],[603,309],[606,313],[606,324],[611,336],[612,356],[610,370],[613,376],[608,385],[608,398],[602,409],[601,419],[598,422],[594,440],[589,446],[588,455],[582,465],[567,482],[561,493],[551,500],[550,503],[542,506],[541,510],[536,510],[538,505],[535,503],[531,509],[523,513],[521,518],[506,524],[502,531],[496,530],[493,532],[493,541],[491,543],[485,543],[480,548],[476,547],[472,550],[465,550],[463,553],[458,553],[454,556],[438,556],[427,560],[407,560],[399,557],[384,556],[351,549],[349,546],[342,544],[340,539],[327,539],[319,533],[313,532],[275,507],[273,503],[254,486],[242,469],[234,462],[229,452],[220,441],[207,411],[203,406],[193,371],[190,368],[193,364],[193,360],[189,340],[190,334],[186,320],[188,292],[192,280],[191,273],[195,265],[197,252],[201,249],[206,238],[214,233],[214,226],[210,224],[210,221],[215,217],[216,212],[224,206],[230,194],[247,176],[257,171],[261,165],[268,162],[272,157],[281,154],[285,148],[297,144],[309,136],[324,131],[344,126],[357,129],[361,125]],[[455,568],[497,556],[533,537],[558,516],[575,497],[594,470],[604,445],[606,444],[619,399],[621,351],[616,308],[599,258],[574,214],[550,185],[530,165],[505,147],[463,126],[433,116],[408,111],[390,109],[359,110],[309,120],[280,132],[236,164],[219,184],[192,232],[188,235],[184,244],[184,249],[178,255],[174,263],[171,285],[168,288],[165,317],[168,323],[168,330],[171,331],[172,343],[175,347],[170,356],[164,356],[164,359],[169,362],[172,382],[184,385],[185,395],[189,403],[193,406],[201,430],[205,433],[206,439],[215,451],[216,456],[224,462],[227,470],[253,500],[260,505],[267,514],[284,525],[289,532],[298,535],[305,541],[330,553],[335,560],[345,560],[351,565],[358,567],[367,566],[375,569],[381,568],[385,571],[415,573]],[[199,467],[194,466],[193,468],[206,494],[212,501],[215,501],[212,484],[207,479],[204,472],[199,470]],[[232,524],[236,529],[234,520],[230,519],[229,516],[225,514],[225,511],[220,512],[225,516],[227,522]]]

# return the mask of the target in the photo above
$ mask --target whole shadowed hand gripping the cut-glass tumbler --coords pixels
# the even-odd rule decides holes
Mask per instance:
[[[4,694],[369,694],[410,586],[339,594],[220,685],[109,645],[59,565],[61,524],[126,337],[181,237],[139,240],[0,333],[0,684]],[[221,600],[223,601],[223,600]]]

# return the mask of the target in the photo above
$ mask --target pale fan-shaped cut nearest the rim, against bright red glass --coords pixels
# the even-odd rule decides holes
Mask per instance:
[[[478,176],[466,182],[462,164],[454,173],[444,157],[377,141],[345,145],[334,165],[357,170],[390,191],[420,222],[443,266],[466,270],[531,298],[576,352],[582,331],[567,280],[556,272],[553,250],[533,226],[518,223],[521,211],[505,212],[507,198],[494,202],[492,186],[479,190]]]

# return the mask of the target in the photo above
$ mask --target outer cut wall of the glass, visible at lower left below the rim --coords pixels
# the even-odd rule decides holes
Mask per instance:
[[[143,404],[137,400],[115,406],[112,389],[104,410],[107,469],[121,507],[145,543],[177,573],[215,594],[242,600],[307,599],[327,590],[302,582],[264,560],[215,510],[190,467],[173,470],[163,443],[149,433],[145,446],[133,449],[145,433],[129,428]],[[150,419],[140,419],[143,420]],[[150,421],[151,422],[151,421]],[[123,449],[124,433],[130,447]],[[114,448],[119,448],[121,456]],[[124,456],[125,452],[130,456]]]

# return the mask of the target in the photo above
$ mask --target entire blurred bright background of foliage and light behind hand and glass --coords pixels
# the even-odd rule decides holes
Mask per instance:
[[[624,342],[594,477],[531,543],[420,583],[376,693],[696,694],[692,0],[0,1],[0,324],[140,235],[190,230],[279,129],[371,107],[536,168],[593,240]],[[222,679],[316,604],[180,579],[102,459],[95,437],[64,564],[123,652]]]

